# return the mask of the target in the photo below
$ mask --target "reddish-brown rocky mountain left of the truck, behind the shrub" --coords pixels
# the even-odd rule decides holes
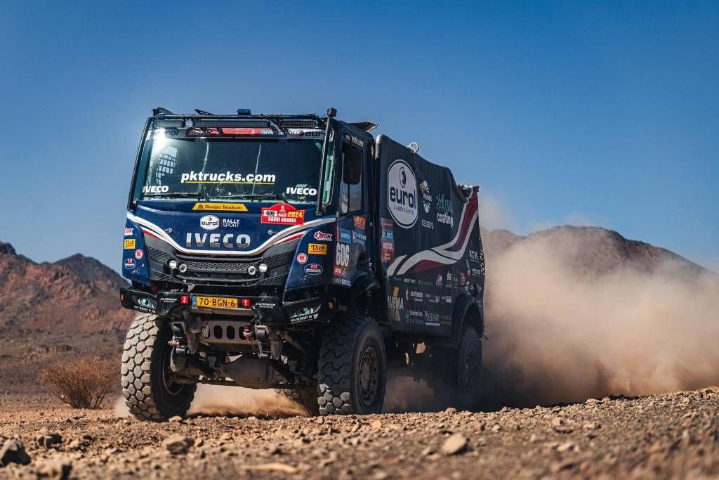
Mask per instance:
[[[134,314],[120,306],[127,285],[94,258],[35,263],[0,243],[0,329],[50,332],[124,330]]]

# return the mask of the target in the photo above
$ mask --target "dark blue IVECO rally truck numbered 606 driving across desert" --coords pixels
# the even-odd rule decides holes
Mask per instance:
[[[418,365],[477,407],[477,186],[375,127],[335,109],[153,110],[119,292],[139,312],[122,353],[135,417],[184,415],[199,383],[278,389],[312,415],[380,412],[388,366]]]

